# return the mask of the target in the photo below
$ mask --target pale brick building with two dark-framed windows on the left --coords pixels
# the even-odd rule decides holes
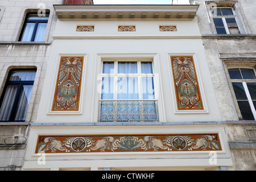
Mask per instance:
[[[21,170],[62,1],[0,1],[0,170]]]

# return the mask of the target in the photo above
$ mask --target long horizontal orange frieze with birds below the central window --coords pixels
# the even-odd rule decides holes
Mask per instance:
[[[218,134],[39,136],[35,153],[219,151]]]

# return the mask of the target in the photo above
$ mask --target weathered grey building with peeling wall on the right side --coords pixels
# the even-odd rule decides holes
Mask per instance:
[[[256,169],[255,1],[190,1],[235,170]]]

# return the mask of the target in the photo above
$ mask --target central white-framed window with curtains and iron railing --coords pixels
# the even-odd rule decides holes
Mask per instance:
[[[104,61],[99,121],[157,121],[151,61]]]

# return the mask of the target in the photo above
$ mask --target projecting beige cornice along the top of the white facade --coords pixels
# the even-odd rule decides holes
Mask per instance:
[[[57,17],[109,18],[189,18],[193,19],[199,5],[53,5]]]

